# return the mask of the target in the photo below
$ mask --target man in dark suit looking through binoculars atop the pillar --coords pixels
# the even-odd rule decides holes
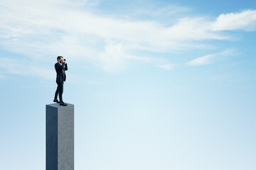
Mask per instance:
[[[56,77],[56,83],[58,84],[58,87],[55,91],[55,96],[53,102],[60,103],[60,106],[68,106],[67,103],[63,102],[63,84],[66,79],[65,70],[68,70],[68,64],[63,60],[62,56],[57,57],[57,61],[55,63],[55,71],[57,74]],[[60,101],[58,101],[57,96],[59,95]]]

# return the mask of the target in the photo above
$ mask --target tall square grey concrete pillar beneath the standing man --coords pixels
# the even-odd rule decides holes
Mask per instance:
[[[46,105],[46,170],[74,170],[74,105]]]

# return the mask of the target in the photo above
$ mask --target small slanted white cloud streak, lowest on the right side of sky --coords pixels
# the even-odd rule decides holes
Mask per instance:
[[[230,56],[230,55],[233,55],[234,52],[235,50],[224,50],[223,52],[218,52],[215,54],[198,57],[194,60],[191,60],[190,62],[187,62],[186,64],[188,66],[200,66],[200,65],[206,65],[206,64],[213,64],[213,62],[215,62],[216,60],[220,60],[219,57]]]

